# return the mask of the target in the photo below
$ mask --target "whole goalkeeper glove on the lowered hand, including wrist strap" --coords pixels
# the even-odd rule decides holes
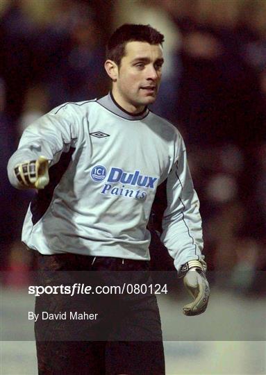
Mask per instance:
[[[190,260],[181,267],[181,272],[186,272],[183,282],[185,288],[194,298],[194,301],[183,307],[183,313],[187,316],[204,313],[208,306],[210,287],[206,279],[206,262]]]

